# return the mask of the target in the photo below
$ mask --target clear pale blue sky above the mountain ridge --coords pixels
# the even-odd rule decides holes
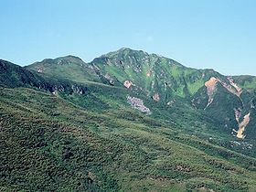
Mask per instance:
[[[256,75],[254,0],[0,0],[0,59],[19,65],[123,47]]]

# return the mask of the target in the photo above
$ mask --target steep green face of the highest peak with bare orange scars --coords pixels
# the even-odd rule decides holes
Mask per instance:
[[[144,91],[155,101],[174,102],[174,98],[187,102],[197,110],[205,111],[210,118],[215,119],[220,129],[238,129],[234,111],[242,115],[254,112],[251,103],[255,100],[255,78],[225,77],[213,69],[190,69],[155,54],[121,48],[91,62],[102,73],[108,74],[125,85],[129,82],[129,89]],[[207,87],[206,83],[216,79],[216,84]],[[253,87],[254,86],[254,87]],[[209,91],[208,91],[209,90]],[[245,96],[244,96],[245,95]],[[240,117],[242,120],[242,117]],[[240,121],[241,121],[240,120]],[[253,125],[251,121],[248,125]],[[253,128],[248,126],[248,137],[255,138]],[[249,133],[248,132],[248,133]],[[233,133],[235,134],[235,133]]]

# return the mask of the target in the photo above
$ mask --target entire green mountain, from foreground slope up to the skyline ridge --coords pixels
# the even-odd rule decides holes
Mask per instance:
[[[121,48],[0,60],[0,190],[253,191],[256,78]]]

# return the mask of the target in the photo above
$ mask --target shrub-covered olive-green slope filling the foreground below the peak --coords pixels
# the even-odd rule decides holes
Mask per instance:
[[[19,88],[1,89],[0,94],[2,190],[256,187],[254,158],[125,105],[102,110],[99,104],[91,111],[86,104],[79,107],[47,92]]]

